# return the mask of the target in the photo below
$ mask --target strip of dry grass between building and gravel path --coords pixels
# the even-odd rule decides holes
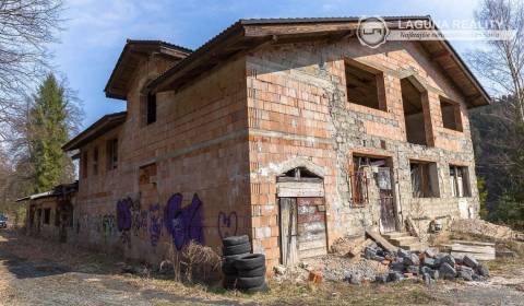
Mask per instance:
[[[82,268],[82,270],[91,270],[94,275],[105,274],[104,280],[114,280],[118,283],[128,284],[133,291],[139,293],[153,292],[179,296],[180,303],[183,305],[200,305],[204,302],[217,302],[219,304],[258,304],[258,305],[434,305],[446,304],[445,301],[434,297],[433,291],[440,287],[428,287],[419,282],[405,281],[401,283],[378,285],[365,283],[362,285],[349,285],[343,282],[323,282],[319,285],[305,282],[286,281],[277,283],[274,280],[269,281],[270,292],[257,293],[253,295],[243,294],[237,291],[225,291],[218,284],[201,285],[201,284],[183,284],[172,280],[162,280],[152,275],[140,276],[131,274],[118,273],[118,258],[111,258],[104,254],[88,252],[86,250],[68,246],[58,245],[31,237],[17,237],[17,235],[9,236],[9,240],[4,239],[0,233],[0,247],[9,247],[22,258],[31,260],[49,260],[60,264]],[[517,245],[514,248],[520,248]],[[513,249],[513,247],[512,247]],[[205,256],[202,256],[204,251]],[[209,250],[194,248],[187,254],[193,257],[192,264],[198,261],[205,260],[215,262],[215,256]],[[202,258],[199,258],[202,256]],[[521,257],[522,258],[522,257]],[[500,259],[491,261],[488,267],[493,273],[505,273],[512,269],[522,267],[523,260],[517,259]],[[112,271],[112,272],[111,272]],[[1,271],[0,271],[1,272]],[[72,281],[67,281],[67,275],[57,276],[63,286],[72,285]],[[95,276],[94,276],[95,278]],[[102,276],[97,276],[102,278]],[[45,284],[45,282],[43,282]],[[112,284],[112,283],[111,283]],[[445,283],[444,283],[445,284]],[[455,285],[455,284],[454,284]],[[460,284],[456,284],[460,285]],[[100,289],[102,290],[102,289]],[[2,287],[0,283],[0,292],[4,295],[9,294],[9,290]],[[102,293],[102,292],[100,292]],[[2,294],[0,294],[2,296]],[[165,299],[153,298],[151,301],[156,305],[168,305]],[[1,304],[1,303],[0,303]]]

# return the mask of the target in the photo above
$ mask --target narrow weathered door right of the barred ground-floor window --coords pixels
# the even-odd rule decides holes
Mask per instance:
[[[379,168],[378,181],[380,196],[380,225],[382,232],[395,232],[395,202],[393,199],[391,170],[389,167]]]

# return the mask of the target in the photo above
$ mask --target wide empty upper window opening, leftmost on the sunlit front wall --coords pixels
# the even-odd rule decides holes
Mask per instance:
[[[370,72],[346,60],[346,91],[349,103],[386,110],[384,98],[384,76],[381,72]],[[370,68],[371,69],[371,68]]]

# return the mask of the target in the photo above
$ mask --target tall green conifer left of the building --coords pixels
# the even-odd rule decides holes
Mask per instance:
[[[43,192],[61,183],[71,163],[62,151],[62,145],[68,141],[66,90],[52,73],[38,87],[29,118],[34,192]]]

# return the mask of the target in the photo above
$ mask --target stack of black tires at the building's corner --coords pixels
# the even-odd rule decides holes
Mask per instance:
[[[265,291],[265,256],[250,254],[249,237],[231,236],[223,239],[224,287],[248,293]]]

